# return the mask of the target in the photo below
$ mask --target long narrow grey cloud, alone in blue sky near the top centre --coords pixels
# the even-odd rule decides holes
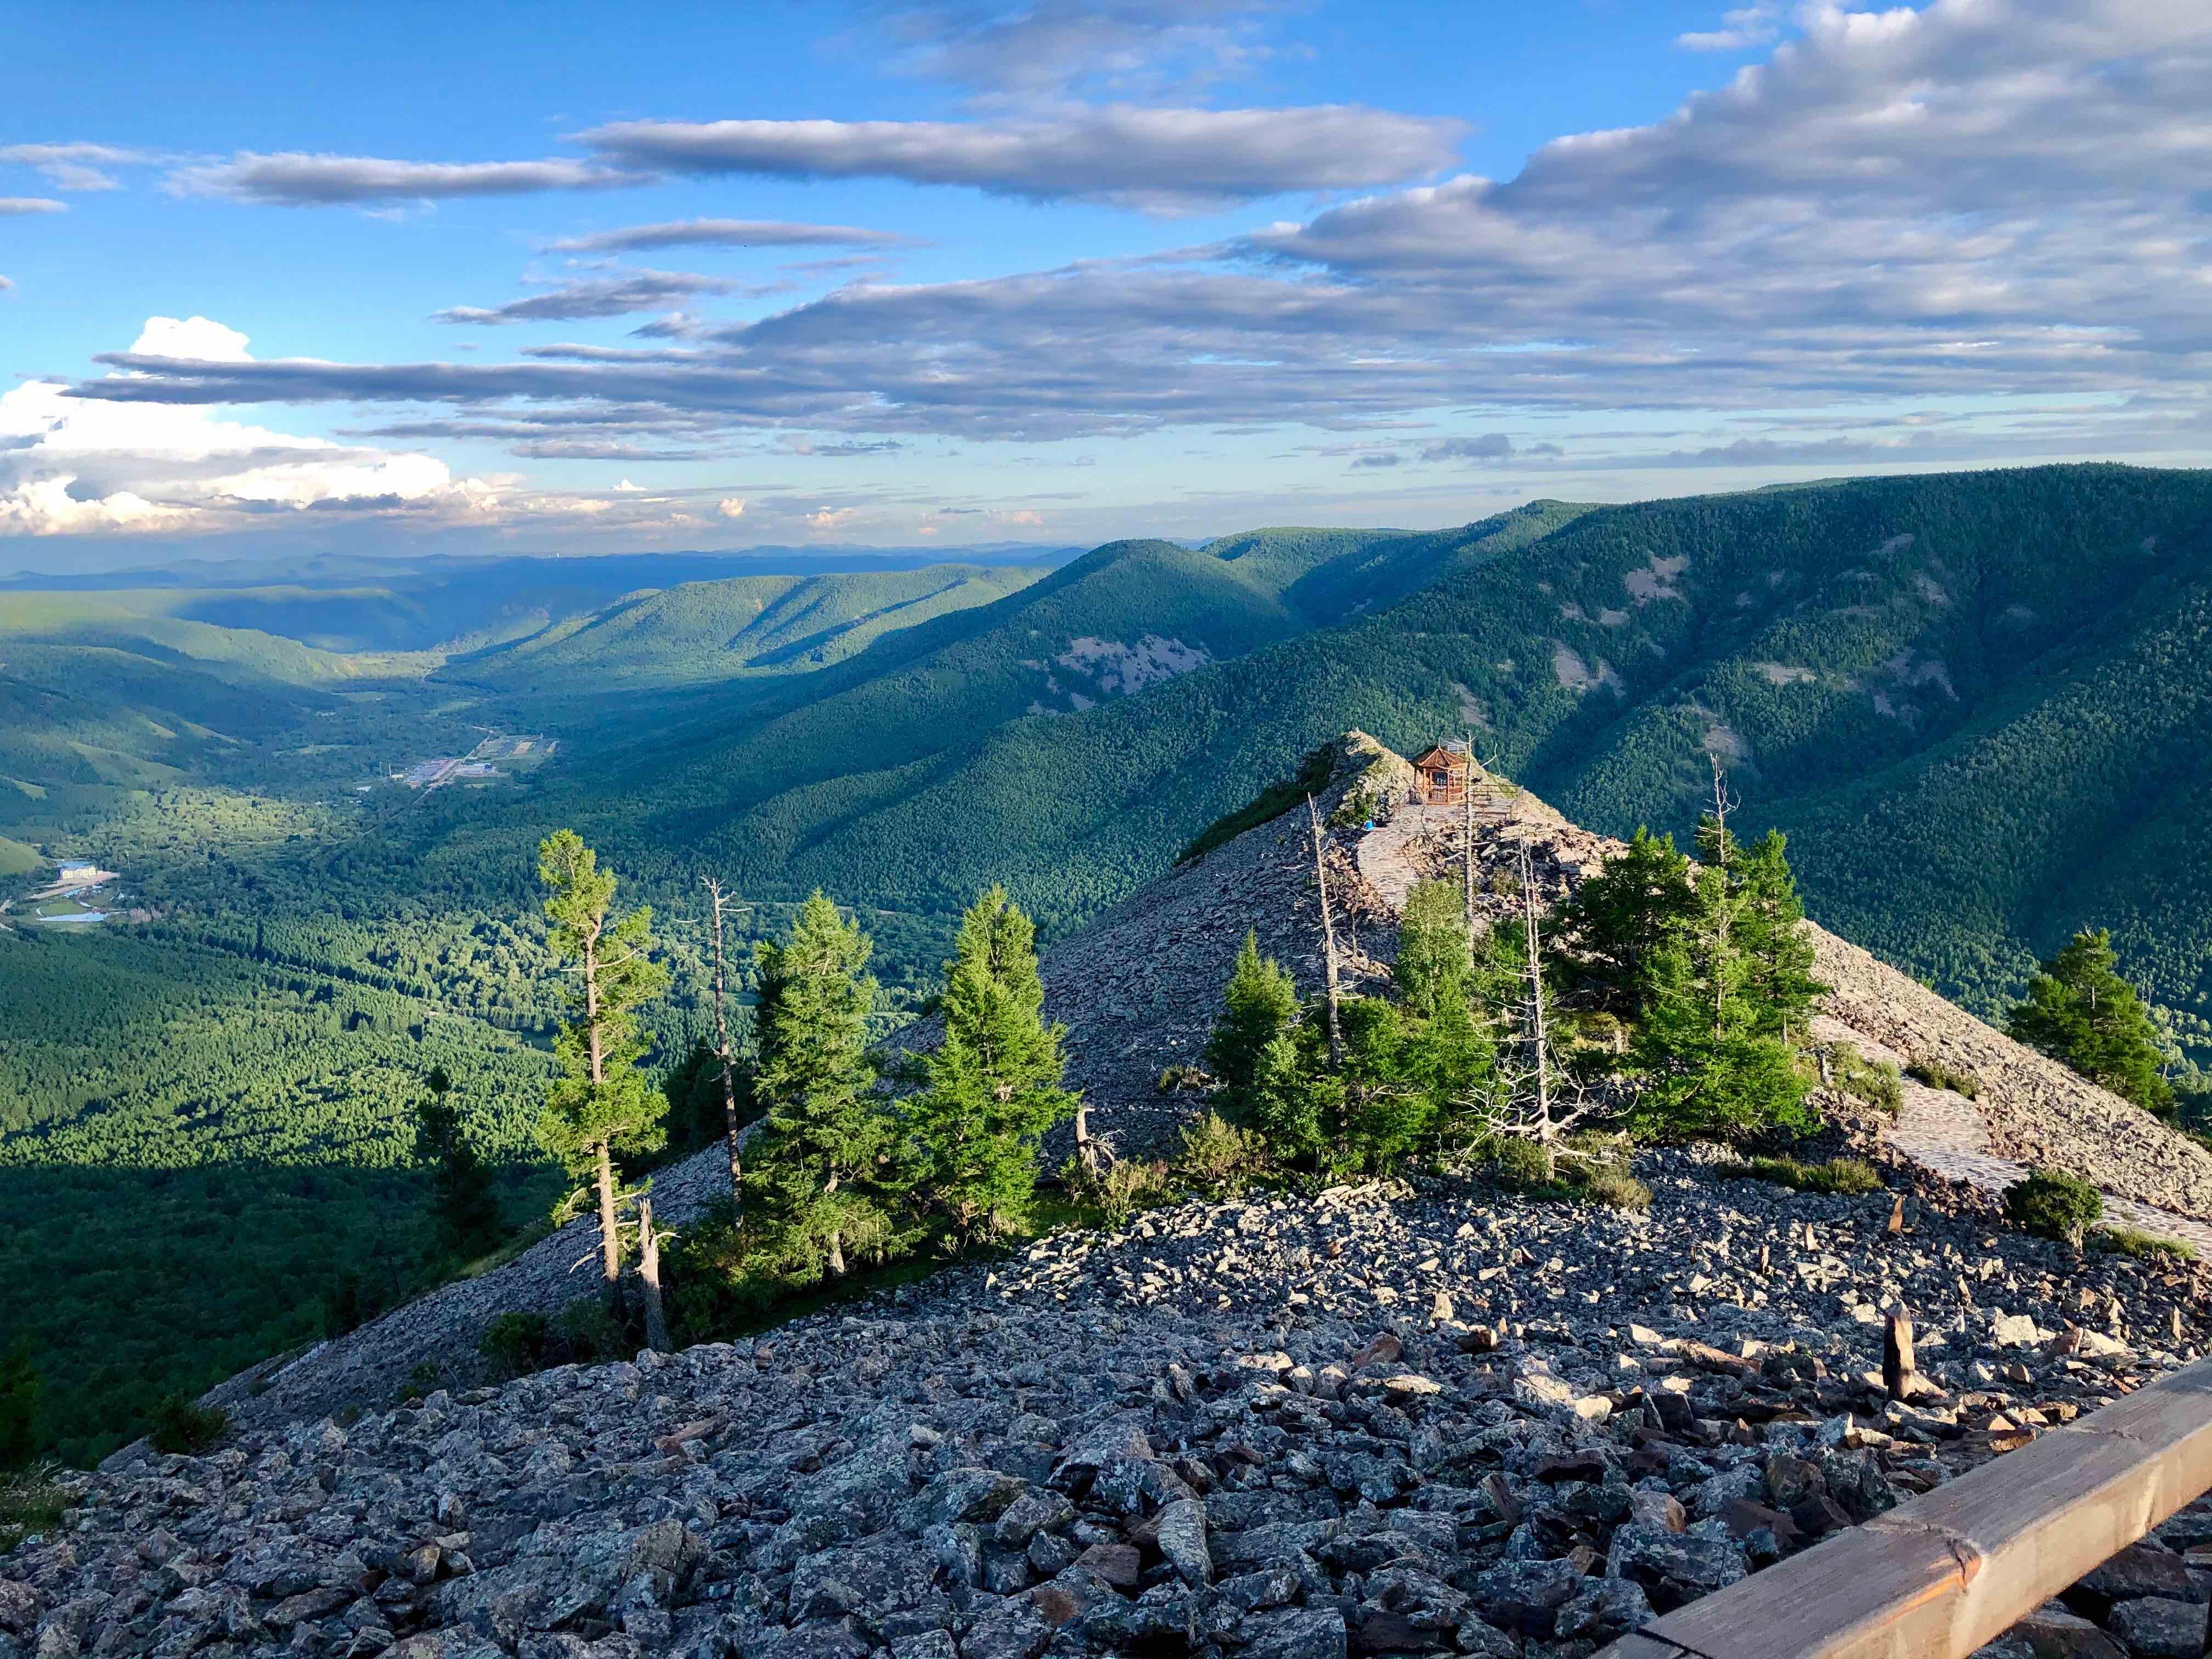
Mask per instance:
[[[608,164],[657,173],[907,179],[1194,212],[1436,173],[1451,166],[1462,131],[1462,122],[1356,104],[1115,104],[1000,122],[617,122],[582,137]]]

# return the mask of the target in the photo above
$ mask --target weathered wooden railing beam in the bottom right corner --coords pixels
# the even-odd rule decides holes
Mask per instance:
[[[1690,1601],[1597,1659],[1966,1659],[2212,1491],[2212,1360]]]

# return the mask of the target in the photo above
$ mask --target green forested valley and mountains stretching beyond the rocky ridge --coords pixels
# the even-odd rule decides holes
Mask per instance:
[[[2212,476],[2046,467],[1048,571],[4,588],[0,900],[91,858],[128,909],[0,911],[0,1325],[53,1356],[82,1460],[400,1294],[434,1254],[434,1068],[509,1221],[542,1219],[555,825],[655,909],[659,1075],[706,1035],[701,876],[743,905],[741,1022],[750,942],[821,887],[874,938],[880,1029],[938,993],[978,891],[1048,951],[1352,726],[1471,730],[1624,836],[1686,838],[1719,754],[1823,925],[1991,1015],[2108,927],[2208,1060],[2208,553]],[[491,734],[542,737],[540,763],[392,781]]]

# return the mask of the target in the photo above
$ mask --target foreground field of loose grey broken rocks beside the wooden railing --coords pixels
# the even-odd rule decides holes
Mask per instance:
[[[0,1657],[1590,1655],[2199,1352],[2192,1263],[1723,1168],[1648,1155],[1648,1212],[1186,1203],[752,1343],[137,1453],[0,1559]],[[2181,1652],[2205,1542],[2188,1511],[2035,1617]]]

